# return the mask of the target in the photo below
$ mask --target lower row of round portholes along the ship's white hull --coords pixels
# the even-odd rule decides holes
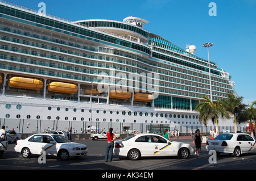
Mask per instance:
[[[6,115],[5,115],[5,117],[6,118],[9,118],[10,117],[10,114],[9,113],[7,113]],[[20,115],[16,115],[16,118],[20,118]],[[31,118],[31,116],[30,115],[27,115],[27,119],[30,119]],[[38,116],[36,116],[36,119],[40,119],[40,116],[38,115]],[[51,120],[51,116],[47,116],[47,119],[48,120]],[[56,120],[59,120],[60,119],[60,117],[59,116],[57,116],[56,117]],[[68,120],[68,117],[65,117],[65,120]],[[99,121],[100,119],[96,119],[96,121]],[[73,117],[73,121],[76,121],[76,117]],[[84,117],[81,117],[81,121],[84,121]],[[89,121],[90,121],[90,118],[89,118]],[[106,119],[104,118],[103,119],[103,121],[105,122],[106,121]],[[110,122],[112,122],[113,121],[113,119],[110,119],[109,120]],[[119,122],[119,119],[117,119],[116,120],[117,122]],[[123,123],[125,123],[125,119],[123,119]],[[137,120],[134,120],[134,123],[137,123]],[[145,123],[150,123],[150,121],[145,121]],[[154,121],[151,121],[151,123],[154,123]],[[155,121],[155,123],[168,123],[168,121]],[[169,123],[172,123],[172,121],[169,121]],[[180,124],[180,121],[178,121],[177,122],[178,124]],[[176,121],[174,121],[174,124],[176,124]],[[182,123],[181,124],[184,124],[184,121],[182,121]],[[188,124],[188,122],[186,121],[186,124]],[[191,122],[189,122],[189,124],[191,124]],[[193,122],[193,124],[195,124],[195,122]],[[198,124],[198,123],[197,123]]]

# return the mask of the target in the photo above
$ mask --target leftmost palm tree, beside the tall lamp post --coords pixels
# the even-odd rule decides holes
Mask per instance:
[[[208,120],[212,119],[213,123],[216,124],[216,131],[218,131],[218,117],[226,117],[229,118],[229,113],[224,108],[224,102],[222,100],[218,100],[217,102],[212,102],[207,96],[203,96],[206,99],[203,102],[197,104],[195,110],[199,112],[199,122],[202,124],[202,120],[204,125],[207,126]]]

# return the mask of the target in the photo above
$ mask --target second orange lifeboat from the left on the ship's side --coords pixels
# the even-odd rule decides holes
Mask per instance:
[[[51,82],[48,83],[48,90],[51,92],[74,94],[75,92],[77,92],[78,87],[72,83]]]

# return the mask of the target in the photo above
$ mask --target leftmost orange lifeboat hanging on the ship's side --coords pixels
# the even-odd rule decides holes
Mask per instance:
[[[11,77],[9,78],[8,85],[14,88],[31,90],[40,90],[44,86],[43,82],[38,79],[25,77]]]

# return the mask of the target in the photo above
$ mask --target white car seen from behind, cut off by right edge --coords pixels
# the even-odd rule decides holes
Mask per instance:
[[[230,153],[234,157],[240,157],[243,153],[256,151],[256,141],[249,134],[245,133],[224,133],[213,140],[207,141],[206,149],[215,150],[217,154]]]

